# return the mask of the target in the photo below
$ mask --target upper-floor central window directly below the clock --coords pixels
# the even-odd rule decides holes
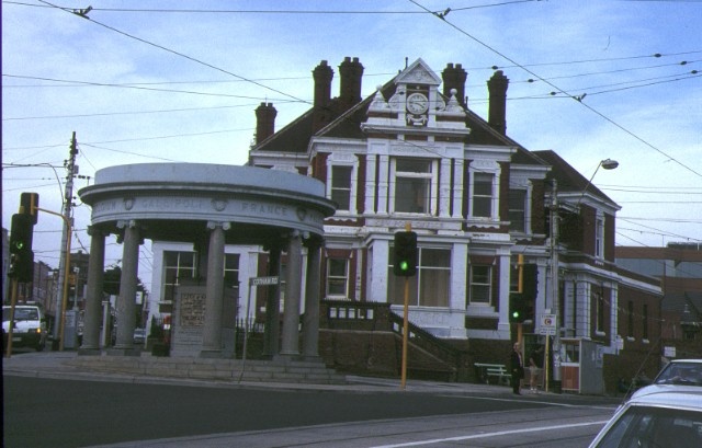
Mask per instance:
[[[390,194],[394,211],[432,214],[435,208],[437,175],[434,162],[423,159],[395,159],[395,182]]]

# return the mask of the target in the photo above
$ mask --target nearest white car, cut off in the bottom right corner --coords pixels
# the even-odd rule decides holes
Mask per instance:
[[[616,410],[590,448],[702,447],[702,388],[641,392]]]

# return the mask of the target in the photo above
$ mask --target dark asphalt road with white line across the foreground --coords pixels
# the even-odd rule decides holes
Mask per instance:
[[[554,394],[3,380],[5,447],[587,447],[615,406]]]

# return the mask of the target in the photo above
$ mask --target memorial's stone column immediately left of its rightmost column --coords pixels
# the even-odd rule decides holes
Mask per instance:
[[[299,288],[302,268],[302,236],[294,231],[287,245],[287,278],[285,288],[285,308],[283,310],[283,341],[281,355],[299,355]]]

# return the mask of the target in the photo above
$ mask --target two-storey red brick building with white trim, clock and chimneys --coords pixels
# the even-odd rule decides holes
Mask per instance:
[[[387,317],[385,309],[370,311],[376,305],[401,314],[404,288],[393,275],[393,240],[410,223],[419,249],[417,275],[410,278],[414,334],[460,348],[471,366],[503,364],[520,335],[528,351],[543,344],[542,320],[558,310],[562,368],[569,369],[564,389],[582,391],[585,374],[602,379],[597,391],[603,382],[609,389],[619,376],[635,375],[642,353],[660,332],[655,324],[658,282],[614,264],[620,207],[611,198],[557,153],[530,151],[507,135],[507,76],[496,71],[487,81],[484,119],[468,107],[467,73],[460,64],[446,65],[438,76],[418,59],[366,97],[361,95],[363,70],[358,58],[346,58],[339,66],[339,95],[332,97],[333,69],[322,60],[313,70],[310,108],[279,130],[274,105],[261,103],[249,152],[249,165],[324,182],[337,204],[336,214],[325,219],[318,285],[321,300],[336,305],[325,308],[335,311],[321,320],[328,328],[366,322],[356,326],[360,338],[320,336],[325,361],[342,370],[397,372],[392,338],[369,348],[374,340],[369,333],[377,329],[367,320]],[[557,222],[557,240],[551,219]],[[152,248],[155,266],[162,256],[182,255],[192,260],[182,269],[185,276],[195,272],[194,246],[155,242]],[[265,248],[227,251],[239,264],[230,267],[238,284],[264,272]],[[529,266],[523,272],[534,285],[526,298],[533,315],[521,328],[508,315],[510,295],[518,290],[518,261]],[[156,271],[152,299],[168,301],[169,289],[158,286],[167,273]],[[301,288],[304,295],[307,285]],[[252,297],[256,313],[265,298]],[[647,323],[629,326],[622,307],[641,310]],[[624,341],[624,332],[635,340]],[[350,345],[339,346],[341,340]],[[584,371],[586,342],[596,347],[595,372]],[[374,370],[378,359],[384,369]],[[647,368],[653,375],[657,366]]]

